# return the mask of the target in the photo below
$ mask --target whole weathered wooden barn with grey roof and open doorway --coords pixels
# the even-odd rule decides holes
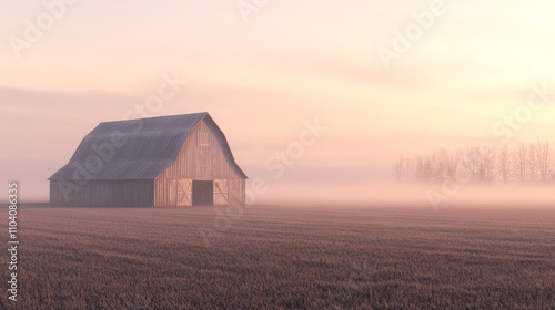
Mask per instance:
[[[243,205],[246,178],[208,113],[105,122],[49,178],[50,203]]]

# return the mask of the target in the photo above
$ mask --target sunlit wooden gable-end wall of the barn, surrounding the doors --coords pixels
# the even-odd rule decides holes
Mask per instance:
[[[198,145],[199,132],[208,133],[208,145]],[[175,180],[189,178],[196,180],[229,179],[230,204],[244,203],[244,179],[236,170],[231,151],[225,147],[225,138],[206,118],[199,122],[190,132],[176,161],[154,180],[154,206],[175,206]]]

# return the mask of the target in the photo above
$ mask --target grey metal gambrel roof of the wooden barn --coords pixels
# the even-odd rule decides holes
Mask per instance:
[[[49,179],[154,179],[173,162],[191,130],[206,118],[223,136],[230,165],[244,178],[225,135],[208,113],[100,123],[88,134],[70,162]],[[113,152],[111,152],[113,149]],[[99,159],[101,165],[99,164]],[[87,174],[84,167],[89,161]]]

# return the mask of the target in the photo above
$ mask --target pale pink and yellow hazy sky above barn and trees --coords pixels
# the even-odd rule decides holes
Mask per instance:
[[[0,0],[0,184],[47,199],[47,178],[100,122],[206,111],[268,185],[260,203],[394,197],[385,187],[401,153],[555,143],[554,9]],[[171,95],[154,108],[161,87]],[[315,123],[325,131],[283,176],[265,168]]]

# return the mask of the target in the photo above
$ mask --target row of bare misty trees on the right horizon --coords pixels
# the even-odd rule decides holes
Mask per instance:
[[[395,177],[414,182],[464,178],[471,183],[547,183],[555,180],[553,155],[549,143],[542,141],[513,147],[440,148],[424,156],[401,155],[395,162]]]

